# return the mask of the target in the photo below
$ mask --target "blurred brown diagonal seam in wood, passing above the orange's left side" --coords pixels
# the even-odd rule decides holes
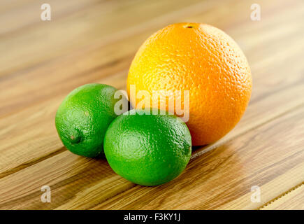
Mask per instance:
[[[202,8],[201,6],[204,6],[205,4],[206,4],[205,2],[194,3],[194,4],[191,4],[187,7],[180,8],[178,10],[174,10],[171,13],[168,13],[168,14],[165,14],[165,15],[159,15],[156,18],[151,18],[150,20],[147,20],[147,22],[144,22],[143,24],[140,23],[139,25],[134,25],[133,27],[123,29],[122,31],[117,31],[113,34],[110,34],[107,38],[105,38],[105,40],[102,41],[103,43],[101,45],[99,45],[98,47],[100,48],[104,45],[109,45],[109,44],[111,44],[115,41],[120,41],[122,39],[121,36],[124,36],[123,34],[127,34],[126,36],[131,36],[131,35],[138,34],[138,32],[145,31],[145,30],[147,30],[147,27],[149,27],[149,25],[155,26],[155,25],[157,25],[157,23],[159,21],[164,20],[164,18],[179,18],[179,16],[181,16],[183,14],[193,15],[194,13],[198,13]],[[194,10],[194,12],[191,11],[191,10]],[[126,36],[124,36],[124,38],[126,38]],[[94,43],[96,43],[96,41],[94,41]],[[92,45],[93,45],[92,43],[89,43],[87,45],[83,45],[80,48],[76,48],[75,51],[73,51],[73,52],[81,52],[83,49],[96,48],[96,45],[94,47]],[[13,75],[14,73],[19,73],[24,69],[31,69],[33,67],[38,67],[40,64],[43,64],[43,63],[54,62],[56,60],[59,60],[59,58],[67,56],[67,55],[71,55],[71,52],[70,53],[65,53],[63,55],[59,55],[58,57],[46,59],[45,61],[39,62],[38,64],[34,64],[34,65],[31,65],[31,66],[24,67],[23,69],[18,70],[18,71],[13,71],[13,73],[4,73],[3,75],[1,75],[1,77],[2,76],[10,76],[10,75]]]

